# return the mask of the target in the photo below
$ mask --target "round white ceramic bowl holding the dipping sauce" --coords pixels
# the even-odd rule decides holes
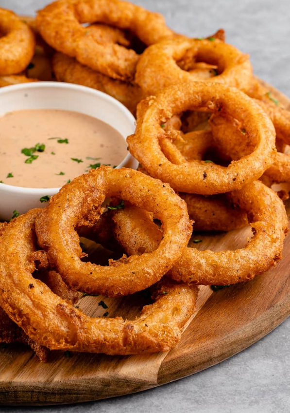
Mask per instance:
[[[118,100],[85,86],[58,82],[35,82],[0,88],[0,116],[21,109],[62,109],[94,116],[113,126],[126,140],[135,131],[135,118]],[[0,147],[3,142],[0,142]],[[128,152],[117,168],[137,169],[138,162]],[[13,211],[22,214],[45,207],[39,198],[60,188],[22,188],[0,184],[0,221],[9,221]]]

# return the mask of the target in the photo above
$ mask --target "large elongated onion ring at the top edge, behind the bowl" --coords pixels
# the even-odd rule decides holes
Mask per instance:
[[[145,45],[173,34],[160,14],[121,0],[58,0],[36,17],[39,33],[57,51],[114,79],[133,80],[139,56],[118,43],[97,42],[82,26],[96,22],[131,30]]]

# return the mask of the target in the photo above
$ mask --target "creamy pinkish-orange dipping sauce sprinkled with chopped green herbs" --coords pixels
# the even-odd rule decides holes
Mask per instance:
[[[30,109],[0,117],[4,184],[58,188],[100,164],[117,166],[126,154],[126,141],[116,129],[83,113]]]

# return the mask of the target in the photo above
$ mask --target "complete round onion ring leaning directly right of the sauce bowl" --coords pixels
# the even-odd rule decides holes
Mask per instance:
[[[160,147],[164,138],[171,137],[162,124],[188,108],[205,108],[238,119],[257,142],[255,150],[228,167],[199,160],[173,164]],[[213,83],[188,82],[141,101],[137,107],[136,132],[127,142],[130,152],[151,176],[169,183],[176,191],[213,195],[239,189],[258,179],[271,166],[275,131],[266,113],[239,90]]]

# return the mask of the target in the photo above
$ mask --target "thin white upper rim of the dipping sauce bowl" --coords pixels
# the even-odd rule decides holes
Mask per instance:
[[[44,87],[44,88],[51,88],[51,87],[56,87],[59,89],[69,89],[69,90],[74,90],[78,92],[85,92],[85,93],[90,93],[95,96],[101,97],[101,99],[106,100],[116,107],[119,107],[121,112],[124,113],[125,116],[127,116],[128,120],[132,123],[135,124],[136,119],[133,116],[133,114],[129,111],[129,109],[126,108],[119,100],[115,99],[114,97],[110,96],[109,94],[106,94],[104,92],[101,92],[97,89],[89,88],[87,86],[83,85],[77,85],[74,83],[67,83],[67,82],[55,82],[55,81],[50,81],[50,82],[45,82],[45,81],[40,81],[40,82],[27,82],[27,83],[18,83],[16,85],[9,85],[9,86],[3,86],[0,88],[0,95],[13,92],[14,90],[25,90],[25,89],[37,89],[38,87]],[[126,139],[125,139],[126,141]],[[117,169],[120,169],[125,165],[133,156],[131,153],[127,153],[125,158],[117,165]],[[0,190],[5,188],[6,192],[14,192],[14,193],[19,193],[19,194],[24,194],[24,193],[31,193],[35,195],[42,195],[44,191],[48,192],[48,195],[51,195],[52,193],[58,192],[61,187],[59,188],[30,188],[30,187],[17,187],[9,184],[0,184]]]

